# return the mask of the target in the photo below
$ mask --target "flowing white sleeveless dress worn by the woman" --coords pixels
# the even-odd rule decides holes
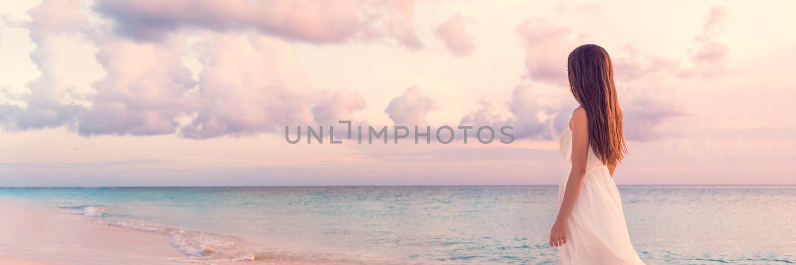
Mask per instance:
[[[558,186],[559,205],[572,167],[572,129],[560,137],[567,173]],[[644,264],[627,234],[622,200],[614,178],[589,146],[586,177],[567,222],[567,244],[559,247],[560,264]]]

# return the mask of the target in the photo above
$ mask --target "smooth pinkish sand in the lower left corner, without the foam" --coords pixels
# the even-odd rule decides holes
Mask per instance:
[[[167,236],[92,224],[52,205],[0,197],[0,263],[175,264]]]

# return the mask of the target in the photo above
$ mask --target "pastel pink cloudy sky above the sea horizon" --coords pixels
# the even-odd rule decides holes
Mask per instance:
[[[0,185],[557,185],[583,44],[615,67],[618,185],[796,185],[794,7],[6,1]],[[516,140],[286,141],[339,120]]]

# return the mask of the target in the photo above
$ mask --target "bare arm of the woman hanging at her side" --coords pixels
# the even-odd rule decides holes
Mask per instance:
[[[550,246],[559,247],[567,243],[567,221],[586,177],[586,159],[589,148],[589,129],[586,110],[578,107],[572,111],[569,122],[572,129],[572,170],[569,172],[567,186],[564,189],[564,201],[558,210],[556,223],[550,231]]]

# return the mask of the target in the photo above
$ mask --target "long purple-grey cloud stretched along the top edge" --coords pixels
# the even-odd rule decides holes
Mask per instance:
[[[119,33],[146,41],[179,29],[256,29],[288,41],[321,44],[387,35],[411,49],[422,47],[412,27],[413,1],[115,0],[99,1],[94,10],[115,21]],[[393,13],[380,12],[385,10]]]

